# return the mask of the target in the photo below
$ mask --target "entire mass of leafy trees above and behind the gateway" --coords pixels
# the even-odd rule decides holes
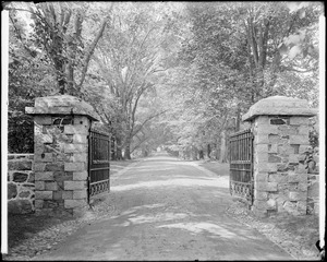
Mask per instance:
[[[24,108],[37,96],[70,94],[92,104],[119,158],[165,145],[185,158],[226,162],[228,135],[258,99],[286,95],[317,107],[320,3],[7,8],[10,152],[33,150]]]

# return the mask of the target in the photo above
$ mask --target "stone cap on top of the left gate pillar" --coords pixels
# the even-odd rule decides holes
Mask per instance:
[[[94,121],[100,117],[93,106],[71,95],[45,96],[35,98],[35,107],[25,107],[27,115],[80,115]]]

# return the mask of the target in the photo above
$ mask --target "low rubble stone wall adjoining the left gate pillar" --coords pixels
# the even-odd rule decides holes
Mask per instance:
[[[35,174],[33,154],[8,155],[8,213],[35,211]]]

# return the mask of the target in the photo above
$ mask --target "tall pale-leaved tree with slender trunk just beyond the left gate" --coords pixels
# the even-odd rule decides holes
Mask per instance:
[[[152,118],[136,126],[136,112],[142,96],[155,88],[159,72],[167,68],[169,44],[173,41],[171,23],[161,3],[120,3],[96,51],[100,76],[120,103],[120,126],[117,133],[124,157],[131,158],[131,143]]]

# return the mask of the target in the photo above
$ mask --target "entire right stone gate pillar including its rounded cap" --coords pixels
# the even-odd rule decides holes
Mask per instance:
[[[254,104],[242,117],[254,134],[253,211],[306,214],[307,169],[304,152],[308,142],[308,118],[316,110],[306,100],[271,96]]]

